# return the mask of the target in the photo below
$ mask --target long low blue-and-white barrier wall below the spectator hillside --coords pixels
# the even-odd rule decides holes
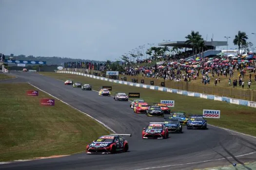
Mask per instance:
[[[214,95],[190,92],[190,91],[185,91],[185,90],[177,90],[177,89],[173,89],[173,88],[160,87],[160,86],[156,86],[156,85],[144,85],[144,84],[140,84],[140,83],[131,83],[131,82],[126,82],[126,81],[113,80],[113,79],[109,79],[109,78],[105,78],[105,77],[98,77],[98,76],[84,74],[84,73],[80,73],[80,72],[74,72],[74,71],[57,71],[57,73],[77,74],[77,75],[81,75],[81,76],[86,76],[86,77],[90,77],[90,78],[94,78],[94,79],[104,80],[104,81],[123,84],[123,85],[131,85],[131,86],[136,86],[136,87],[141,87],[141,88],[149,88],[152,90],[166,91],[166,92],[177,93],[177,94],[185,95],[185,96],[228,102],[228,103],[232,103],[232,104],[245,105],[245,106],[256,108],[256,102],[251,102],[251,101],[246,101],[246,100],[214,96]]]

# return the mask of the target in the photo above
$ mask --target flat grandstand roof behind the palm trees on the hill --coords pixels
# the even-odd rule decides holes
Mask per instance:
[[[227,46],[227,41],[204,41],[205,46],[218,47],[218,46]],[[186,44],[185,41],[172,41],[158,43],[158,46],[169,46],[169,47],[184,47],[192,48],[192,44]]]

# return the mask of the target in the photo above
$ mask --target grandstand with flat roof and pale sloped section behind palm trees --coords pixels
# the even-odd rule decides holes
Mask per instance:
[[[186,59],[196,59],[197,57],[211,57],[217,55],[221,50],[216,50],[216,47],[227,46],[227,41],[204,41],[205,46],[207,47],[206,51],[200,52],[196,55],[190,56]],[[193,48],[193,44],[187,44],[185,41],[172,41],[172,42],[164,42],[158,43],[158,46],[168,46],[168,47],[180,47],[180,48]]]

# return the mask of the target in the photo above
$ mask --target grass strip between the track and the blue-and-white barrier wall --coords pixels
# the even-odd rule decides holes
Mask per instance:
[[[202,114],[203,109],[220,110],[220,119],[208,119],[210,124],[256,136],[256,108],[139,88],[130,85],[120,85],[74,74],[46,72],[42,72],[41,74],[60,80],[73,79],[74,81],[79,81],[81,83],[88,83],[92,85],[94,90],[98,90],[101,86],[112,86],[112,94],[115,92],[140,92],[141,98],[145,99],[145,101],[150,104],[153,102],[160,102],[160,100],[175,100],[175,107],[172,109],[173,111]]]

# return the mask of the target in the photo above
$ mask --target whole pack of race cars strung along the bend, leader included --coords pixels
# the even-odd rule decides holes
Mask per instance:
[[[66,80],[64,85],[72,85],[79,87],[82,90],[92,90],[89,84],[81,84]],[[111,92],[107,88],[101,88],[98,91],[99,96],[111,96]],[[129,101],[126,93],[116,93],[115,101]],[[136,114],[146,114],[148,117],[164,117],[168,114],[168,118],[164,118],[163,122],[150,122],[147,127],[142,130],[142,139],[164,139],[169,137],[169,133],[182,133],[182,125],[187,126],[187,129],[207,129],[207,120],[202,115],[186,116],[184,112],[172,112],[167,104],[154,103],[149,105],[143,99],[136,99],[130,104],[130,108]],[[108,136],[100,136],[91,144],[86,146],[88,154],[109,154],[117,152],[127,152],[129,150],[128,141],[123,136],[132,136],[131,134],[110,134]]]

